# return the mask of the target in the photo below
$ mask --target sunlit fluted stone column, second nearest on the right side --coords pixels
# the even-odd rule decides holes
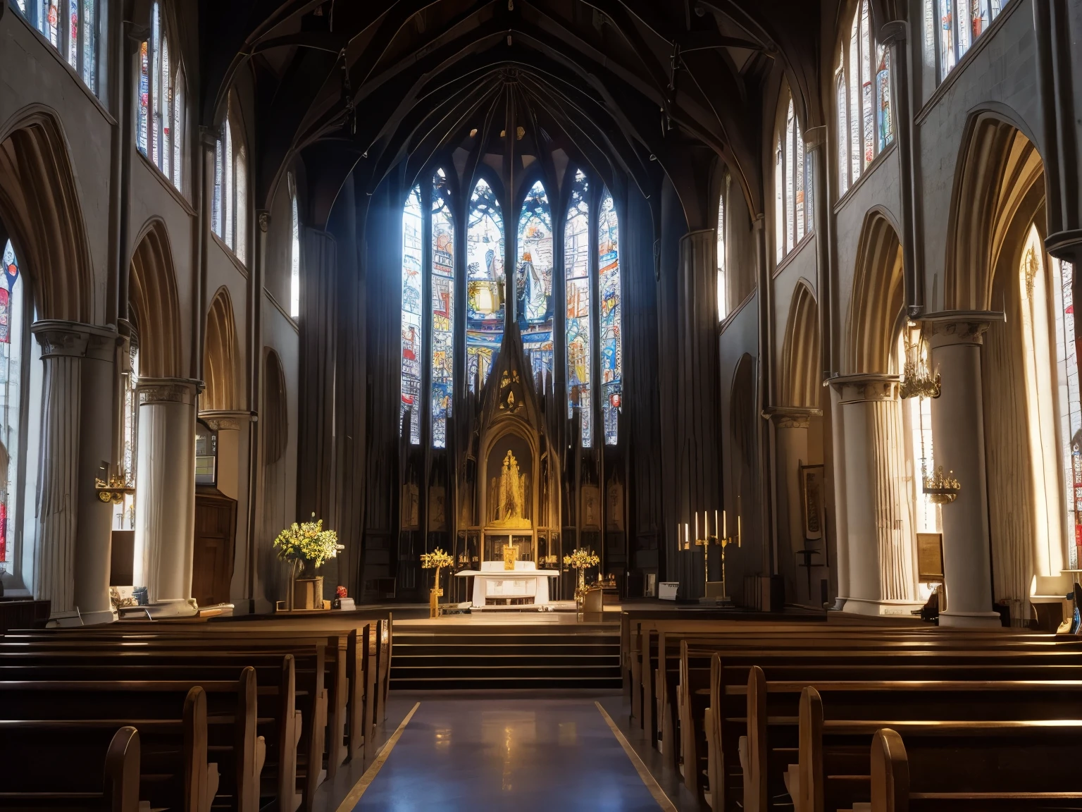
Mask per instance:
[[[845,433],[848,592],[841,595],[843,611],[908,615],[921,604],[905,492],[898,377],[847,375],[830,383],[839,393]]]

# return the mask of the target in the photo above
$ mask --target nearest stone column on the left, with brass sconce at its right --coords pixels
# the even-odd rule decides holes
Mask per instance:
[[[108,476],[113,456],[117,333],[58,319],[30,329],[44,365],[34,595],[52,601],[53,617],[78,610],[83,623],[108,623],[116,619],[109,602],[111,510],[97,499],[94,480]]]

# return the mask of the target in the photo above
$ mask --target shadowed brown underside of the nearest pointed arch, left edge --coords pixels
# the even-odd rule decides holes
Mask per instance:
[[[0,218],[29,272],[40,318],[93,320],[90,247],[67,139],[42,105],[0,128]]]

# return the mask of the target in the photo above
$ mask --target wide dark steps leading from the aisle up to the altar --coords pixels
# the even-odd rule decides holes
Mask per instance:
[[[619,689],[615,625],[396,628],[391,687],[403,691]]]

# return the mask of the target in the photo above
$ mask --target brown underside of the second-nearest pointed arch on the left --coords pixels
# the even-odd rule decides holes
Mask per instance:
[[[166,224],[158,218],[142,228],[132,253],[129,305],[140,327],[140,375],[180,378],[181,309]]]

